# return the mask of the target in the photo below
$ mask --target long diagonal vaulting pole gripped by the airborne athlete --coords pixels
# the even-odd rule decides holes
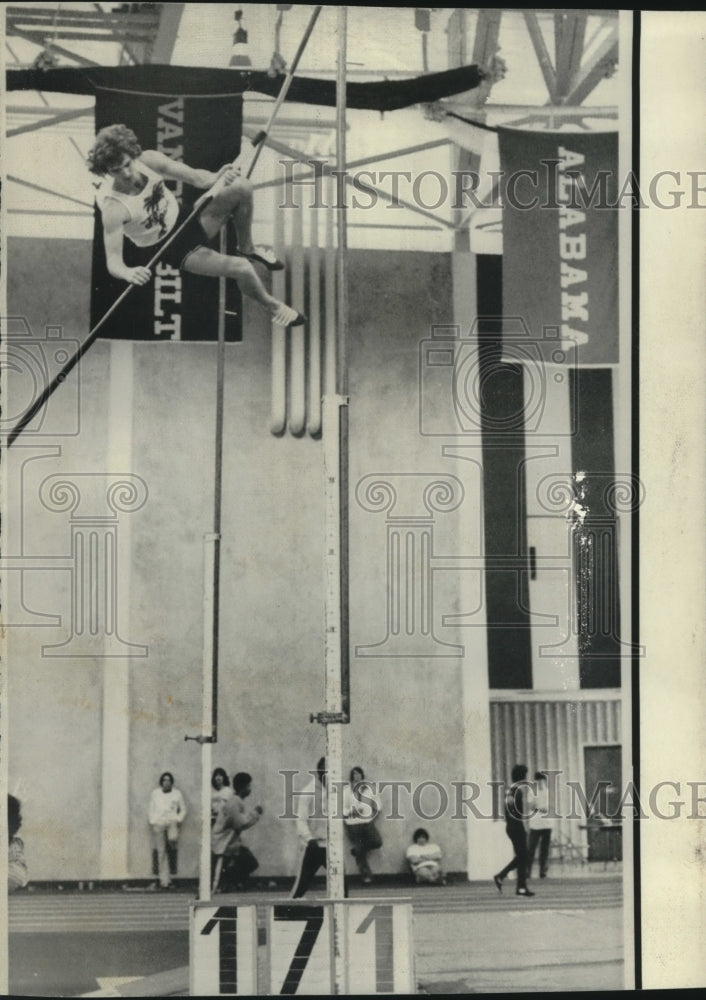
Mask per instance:
[[[294,79],[294,74],[295,74],[297,66],[299,64],[299,60],[301,58],[302,53],[304,52],[304,49],[306,47],[306,43],[309,41],[311,33],[314,30],[314,25],[316,24],[316,20],[317,20],[317,18],[318,18],[318,16],[319,16],[320,13],[321,13],[321,6],[315,7],[314,11],[313,11],[313,13],[311,15],[311,18],[309,19],[309,24],[307,25],[306,31],[304,32],[304,36],[302,37],[302,40],[299,43],[299,48],[297,49],[296,55],[294,56],[294,59],[292,60],[291,68],[287,72],[287,75],[284,78],[284,82],[282,83],[282,87],[280,88],[280,92],[277,95],[277,100],[275,101],[274,107],[272,109],[272,113],[270,115],[270,120],[267,123],[267,127],[266,127],[266,129],[264,131],[259,132],[255,136],[255,138],[252,140],[253,146],[255,146],[255,151],[254,151],[254,155],[253,155],[252,161],[251,161],[250,166],[249,166],[248,171],[247,171],[247,177],[250,177],[250,175],[252,174],[252,172],[253,172],[253,170],[255,168],[255,164],[257,163],[257,160],[258,160],[258,158],[260,156],[260,152],[262,150],[262,146],[263,146],[265,140],[267,139],[268,132],[269,132],[270,128],[272,127],[272,124],[273,124],[273,122],[274,122],[274,120],[275,120],[275,118],[277,116],[277,113],[279,112],[280,107],[282,106],[282,103],[283,103],[285,97],[287,96],[287,92],[289,91],[289,88],[291,86],[292,80]],[[237,167],[237,165],[238,165],[238,160],[236,159],[236,161],[232,164],[232,166],[233,167]],[[221,189],[222,186],[223,186],[222,181],[220,181],[220,180],[216,181],[216,183],[213,185],[213,187],[210,189],[210,191],[208,191],[205,195],[203,195],[201,198],[198,199],[198,201],[194,205],[193,211],[184,220],[184,222],[181,224],[181,226],[179,226],[177,229],[175,229],[174,232],[165,240],[165,242],[159,248],[159,250],[157,251],[157,253],[145,265],[146,267],[148,267],[148,268],[151,269],[151,268],[154,267],[154,265],[156,263],[158,263],[158,261],[162,258],[163,254],[164,254],[164,251],[167,249],[167,247],[169,247],[174,242],[174,240],[177,238],[177,236],[179,235],[179,233],[181,233],[182,230],[186,228],[186,226],[191,222],[191,220],[193,218],[195,218],[195,216],[199,215],[203,211],[203,209],[206,208],[207,205],[210,205],[210,203],[213,201],[215,195],[218,193],[218,191]],[[73,354],[68,359],[68,361],[64,364],[64,366],[61,369],[61,371],[58,372],[54,376],[54,378],[51,380],[51,382],[49,382],[44,387],[44,389],[37,396],[37,398],[34,400],[34,402],[22,414],[22,416],[20,417],[20,419],[17,421],[17,424],[12,428],[12,430],[10,431],[10,433],[7,435],[7,447],[8,448],[10,448],[14,444],[14,442],[17,440],[17,438],[19,437],[19,435],[25,429],[25,427],[29,423],[31,423],[32,420],[34,420],[34,418],[39,413],[39,411],[44,406],[44,404],[47,402],[47,400],[52,395],[52,393],[55,392],[56,389],[58,389],[58,387],[62,384],[62,382],[66,381],[66,377],[69,375],[69,373],[76,367],[76,365],[79,363],[79,361],[81,360],[81,358],[83,357],[83,355],[86,353],[86,351],[95,343],[95,341],[98,338],[98,334],[100,333],[101,329],[105,325],[106,321],[113,315],[113,313],[118,308],[118,306],[128,297],[128,295],[130,294],[130,292],[135,287],[136,287],[135,285],[128,285],[127,288],[125,288],[121,292],[121,294],[118,296],[118,298],[112,304],[112,306],[110,306],[110,308],[105,313],[105,315],[102,316],[101,319],[96,323],[96,325],[89,331],[88,336],[83,341],[83,343],[81,344],[81,346],[78,348],[78,350],[76,351],[76,353]]]

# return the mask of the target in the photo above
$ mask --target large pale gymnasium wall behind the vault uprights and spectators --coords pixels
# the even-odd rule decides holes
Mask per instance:
[[[12,243],[11,312],[25,314],[33,328],[54,323],[85,335],[86,247],[53,241],[55,258],[48,266],[39,241]],[[385,282],[381,275],[388,272]],[[376,646],[387,629],[390,512],[368,509],[356,499],[356,489],[365,477],[379,474],[407,476],[398,485],[410,484],[410,473],[427,484],[454,476],[461,482],[466,475],[442,459],[438,442],[419,434],[420,342],[429,336],[431,322],[451,322],[450,258],[351,252],[349,273],[352,721],[344,730],[344,766],[360,764],[374,780],[449,788],[465,777],[463,658],[457,655],[458,636],[449,634],[442,615],[464,610],[463,574],[438,574],[430,566],[426,575],[410,570],[417,574],[414,581],[425,585],[439,578],[429,604],[433,644],[425,645],[428,636],[417,621],[406,650],[397,646],[386,656],[370,655],[365,647]],[[219,734],[213,765],[253,775],[253,801],[260,801],[265,813],[246,839],[262,875],[288,875],[295,871],[298,843],[294,821],[278,818],[284,806],[280,772],[313,768],[325,747],[323,728],[309,721],[311,712],[324,708],[322,447],[306,436],[269,433],[269,324],[253,306],[244,326],[243,343],[226,350]],[[148,655],[133,657],[124,675],[128,661],[100,651],[48,663],[36,628],[12,630],[10,787],[21,780],[34,879],[111,872],[140,877],[150,873],[149,794],[159,773],[172,770],[190,807],[180,875],[195,877],[201,751],[184,737],[201,731],[202,538],[210,530],[213,503],[215,347],[98,341],[80,369],[80,438],[59,441],[60,461],[49,456],[31,463],[35,471],[26,474],[21,496],[19,485],[13,490],[12,503],[18,511],[24,505],[26,537],[37,552],[62,554],[66,562],[69,515],[49,516],[41,504],[30,503],[42,476],[109,471],[144,481],[145,502],[118,517],[118,628],[122,641],[146,645]],[[68,398],[67,389],[59,390],[57,402],[62,393]],[[23,456],[24,449],[13,447],[15,466]],[[419,483],[414,488],[418,494]],[[404,524],[420,511],[430,513],[417,494],[413,509],[399,509]],[[476,514],[469,513],[467,501],[444,509],[437,493],[435,502],[427,532],[431,552],[451,556],[464,550],[459,539],[468,533],[465,519],[475,523]],[[12,524],[8,537],[20,554]],[[24,582],[31,608],[62,615],[63,631],[53,622],[42,630],[43,641],[62,641],[70,573],[25,573]],[[18,609],[19,596],[13,601]],[[439,651],[445,655],[439,657]],[[102,702],[108,682],[123,698],[124,742],[107,738]],[[116,724],[119,728],[120,720]],[[298,780],[295,786],[300,787]],[[127,836],[118,830],[116,839],[124,843],[116,847],[105,814],[107,808],[116,815],[121,795]],[[418,805],[433,816],[438,803],[430,784]],[[420,818],[403,791],[403,818],[381,824],[384,848],[372,859],[374,869],[402,871],[404,849],[418,825],[442,844],[449,869],[465,869],[465,824],[451,818],[452,808],[438,819]],[[58,838],[57,830],[66,834]]]

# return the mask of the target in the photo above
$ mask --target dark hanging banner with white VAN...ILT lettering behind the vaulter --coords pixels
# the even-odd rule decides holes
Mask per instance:
[[[190,167],[218,170],[236,159],[240,151],[242,98],[239,95],[182,97],[98,89],[96,132],[107,125],[124,124],[137,135],[140,146],[156,149]],[[99,178],[95,178],[99,183]],[[203,191],[167,181],[187,210]],[[125,289],[125,282],[108,274],[103,225],[95,209],[91,326],[105,315]],[[154,247],[136,247],[124,240],[125,263],[146,264]],[[236,249],[228,226],[227,252]],[[153,268],[147,285],[135,286],[101,330],[101,337],[129,340],[217,340],[218,279],[187,274],[165,262]],[[241,297],[234,281],[226,283],[226,340],[241,339]]]

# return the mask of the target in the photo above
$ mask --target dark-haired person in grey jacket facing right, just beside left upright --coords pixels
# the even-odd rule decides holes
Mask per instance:
[[[214,892],[245,891],[248,876],[258,861],[240,839],[243,830],[262,816],[262,806],[250,808],[245,801],[252,793],[252,777],[245,771],[233,776],[233,794],[220,806],[211,831],[211,877]]]

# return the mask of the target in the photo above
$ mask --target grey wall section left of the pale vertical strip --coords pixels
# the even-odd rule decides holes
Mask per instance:
[[[43,354],[35,343],[45,326],[59,325],[58,350],[73,352],[85,331],[88,315],[90,244],[8,240],[8,316],[26,318],[31,333],[19,330],[18,364],[26,361],[26,380],[14,397],[3,400],[3,419],[11,422],[29,402],[24,390],[45,377]],[[9,347],[11,321],[3,337]],[[19,329],[19,328],[18,328]],[[49,345],[49,340],[45,341]],[[25,349],[28,354],[23,355]],[[11,356],[11,355],[10,355]],[[71,551],[66,514],[52,511],[40,490],[49,477],[65,469],[88,470],[88,455],[102,455],[107,434],[105,369],[108,346],[97,344],[90,364],[80,373],[85,401],[81,439],[75,436],[75,382],[60,404],[69,433],[61,438],[22,435],[5,450],[2,554],[18,558],[35,572],[3,572],[3,624],[7,626],[7,685],[3,685],[3,733],[9,749],[10,792],[22,800],[23,827],[33,879],[72,878],[95,874],[100,866],[100,768],[102,672],[87,659],[52,656],[51,649],[68,637],[71,617]],[[8,358],[9,360],[9,358]],[[8,379],[12,378],[12,370]],[[37,381],[35,381],[37,380]],[[19,405],[21,402],[22,405]],[[88,415],[90,414],[90,417]],[[74,432],[74,433],[72,433]],[[61,451],[59,451],[61,449]],[[61,616],[61,617],[58,617]],[[56,652],[56,650],[54,650]],[[7,727],[7,728],[6,728]]]

